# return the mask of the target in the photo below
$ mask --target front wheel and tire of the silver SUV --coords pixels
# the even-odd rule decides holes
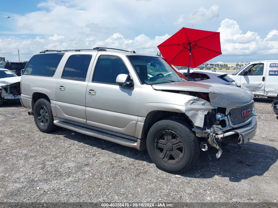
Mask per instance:
[[[185,121],[172,118],[158,121],[150,128],[147,149],[159,169],[179,174],[196,164],[200,144],[190,129]]]

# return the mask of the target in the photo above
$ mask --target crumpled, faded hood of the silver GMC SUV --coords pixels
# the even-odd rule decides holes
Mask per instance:
[[[251,92],[226,84],[183,81],[155,84],[152,87],[156,90],[207,92],[209,93],[210,103],[216,107],[238,107],[251,102],[253,99]]]

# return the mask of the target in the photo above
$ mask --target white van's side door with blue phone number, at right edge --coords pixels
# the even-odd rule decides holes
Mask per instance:
[[[265,76],[265,96],[277,97],[278,94],[278,61],[268,61]]]

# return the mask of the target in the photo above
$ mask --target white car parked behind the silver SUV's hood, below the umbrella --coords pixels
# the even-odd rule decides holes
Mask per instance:
[[[184,76],[187,77],[187,70],[180,70]],[[195,82],[209,82],[219,84],[229,84],[237,86],[232,78],[227,76],[228,74],[222,72],[208,71],[208,70],[190,70],[188,79]]]

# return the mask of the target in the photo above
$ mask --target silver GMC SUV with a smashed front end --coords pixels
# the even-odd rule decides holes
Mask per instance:
[[[66,129],[148,149],[156,166],[181,173],[200,150],[244,144],[255,135],[253,95],[188,81],[166,59],[100,48],[46,50],[21,78],[21,103],[42,132]]]

